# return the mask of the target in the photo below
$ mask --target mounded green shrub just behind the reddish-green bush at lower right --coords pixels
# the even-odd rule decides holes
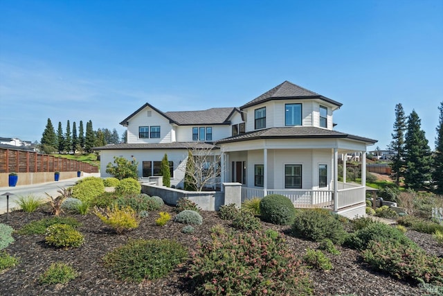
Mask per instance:
[[[415,245],[399,229],[379,222],[357,230],[347,237],[345,244],[357,250],[365,250],[370,241],[399,241],[404,245]]]

